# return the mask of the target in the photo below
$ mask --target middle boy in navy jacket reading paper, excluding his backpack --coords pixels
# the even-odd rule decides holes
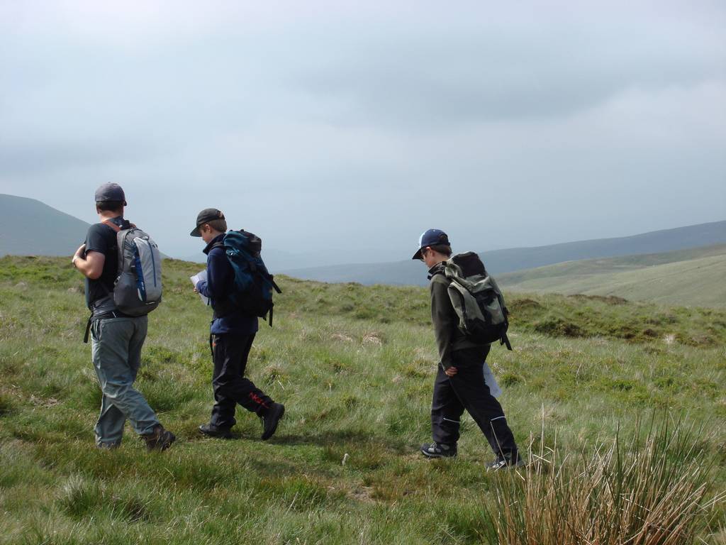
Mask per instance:
[[[207,279],[197,282],[195,291],[208,297],[214,310],[209,342],[215,403],[209,423],[202,424],[199,431],[210,437],[232,437],[230,429],[236,423],[234,411],[239,403],[262,419],[262,439],[266,440],[277,429],[285,405],[274,403],[244,376],[257,333],[257,316],[242,311],[229,299],[234,289],[234,271],[222,245],[227,221],[221,211],[204,209],[197,215],[196,225],[190,234],[207,244]]]

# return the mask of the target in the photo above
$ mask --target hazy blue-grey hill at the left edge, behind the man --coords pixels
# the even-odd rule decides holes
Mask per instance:
[[[0,256],[70,256],[89,224],[33,198],[0,194]]]

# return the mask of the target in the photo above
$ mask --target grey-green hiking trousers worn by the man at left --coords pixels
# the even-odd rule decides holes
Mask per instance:
[[[159,423],[144,396],[134,389],[141,365],[148,318],[103,318],[91,324],[91,353],[103,393],[94,432],[96,444],[121,443],[126,419],[139,435],[151,433]]]

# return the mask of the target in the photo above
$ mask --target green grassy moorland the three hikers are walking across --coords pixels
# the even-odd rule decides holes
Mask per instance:
[[[275,326],[261,326],[248,366],[287,406],[277,435],[261,443],[258,421],[238,413],[237,440],[200,437],[211,363],[209,312],[187,278],[197,270],[166,261],[165,300],[150,315],[137,385],[179,437],[150,455],[128,428],[117,451],[93,447],[99,389],[81,342],[80,275],[67,259],[0,259],[0,544],[520,543],[513,530],[502,537],[507,512],[558,509],[534,501],[537,486],[572,483],[582,493],[600,475],[604,488],[593,490],[642,505],[647,498],[627,496],[637,487],[626,474],[652,460],[647,426],[628,438],[639,416],[647,423],[653,414],[656,429],[682,420],[684,430],[656,441],[663,456],[643,469],[663,483],[655,496],[668,491],[673,501],[684,483],[698,496],[682,509],[694,513],[688,532],[669,527],[670,542],[695,535],[726,543],[723,503],[709,506],[726,488],[726,311],[511,295],[515,351],[496,347],[489,362],[518,443],[541,459],[533,458],[534,472],[491,475],[484,437],[468,416],[457,459],[417,453],[429,438],[436,369],[425,288],[281,277]],[[602,445],[616,435],[627,443],[626,469],[605,460]],[[629,456],[639,462],[627,464]],[[555,458],[570,469],[542,461]],[[614,472],[583,472],[584,459],[603,459]],[[603,511],[602,520],[624,509]],[[595,520],[593,513],[550,516],[550,525]],[[642,517],[633,520],[643,531],[660,531]]]

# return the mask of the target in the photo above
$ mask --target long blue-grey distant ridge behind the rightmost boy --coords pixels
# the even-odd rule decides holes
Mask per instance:
[[[726,221],[690,225],[620,238],[602,238],[534,248],[481,251],[493,275],[560,262],[637,254],[655,254],[726,243]],[[454,248],[465,251],[462,248]],[[285,270],[285,274],[323,282],[418,285],[426,283],[425,267],[412,260],[362,265],[334,265]]]

